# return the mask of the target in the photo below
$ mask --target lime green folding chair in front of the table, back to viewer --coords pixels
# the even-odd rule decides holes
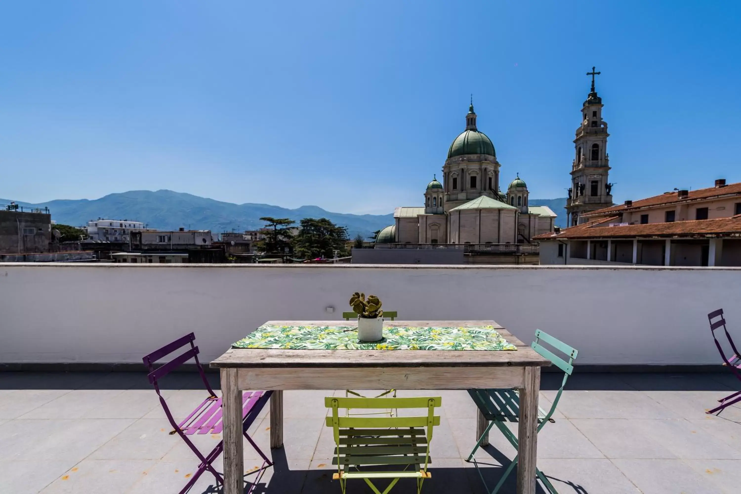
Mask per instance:
[[[389,403],[391,402],[391,403]],[[347,481],[362,478],[373,493],[387,494],[400,478],[415,478],[417,494],[422,490],[422,481],[431,478],[428,465],[431,463],[430,442],[433,427],[440,424],[435,407],[442,398],[340,398],[328,396],[325,406],[332,410],[327,417],[327,427],[332,427],[337,473],[342,494]],[[399,409],[424,409],[425,414],[409,417],[359,417],[345,416],[345,408],[373,410],[391,407]],[[386,466],[387,468],[379,468]],[[371,470],[368,470],[368,469]],[[374,481],[389,478],[391,482],[384,490]]]

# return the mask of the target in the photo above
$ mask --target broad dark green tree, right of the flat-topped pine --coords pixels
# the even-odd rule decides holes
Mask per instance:
[[[293,251],[305,259],[345,256],[348,251],[348,229],[338,227],[327,218],[305,218],[301,230],[293,238]]]

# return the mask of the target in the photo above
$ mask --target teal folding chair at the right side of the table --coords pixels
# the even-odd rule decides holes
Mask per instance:
[[[565,361],[563,358],[556,356],[556,354],[551,352],[551,350],[548,350],[548,348],[543,347],[542,344],[544,343],[550,345],[555,350],[565,353],[565,355],[568,356],[568,361]],[[541,330],[535,331],[535,341],[533,342],[533,344],[531,344],[531,347],[533,347],[533,350],[535,350],[541,356],[548,358],[548,360],[553,362],[556,367],[559,367],[559,369],[564,372],[561,387],[559,388],[558,393],[556,393],[556,398],[554,398],[554,402],[551,405],[551,410],[545,412],[540,408],[538,409],[539,413],[537,432],[540,432],[540,430],[546,423],[554,421],[551,416],[556,411],[556,406],[558,405],[559,399],[561,399],[561,393],[563,392],[563,387],[566,385],[568,376],[571,375],[572,372],[574,372],[573,364],[578,352],[574,348],[569,347],[568,344],[559,341],[558,339],[554,338],[548,333],[544,333]],[[471,398],[473,398],[473,402],[476,403],[476,407],[479,407],[479,410],[484,415],[484,418],[490,422],[488,427],[486,427],[484,433],[479,438],[479,441],[476,441],[476,446],[473,447],[473,451],[471,451],[471,455],[468,455],[466,461],[473,462],[473,465],[476,467],[476,470],[478,470],[479,475],[481,476],[481,480],[484,483],[486,491],[489,492],[489,488],[486,485],[486,481],[484,480],[484,475],[482,475],[481,469],[476,463],[476,459],[473,458],[473,455],[481,446],[482,441],[488,435],[491,427],[495,425],[496,428],[502,432],[505,438],[507,438],[510,444],[512,444],[512,446],[517,449],[519,441],[517,441],[517,436],[515,435],[515,433],[513,433],[509,429],[509,427],[507,427],[507,422],[519,421],[519,392],[517,390],[508,389],[468,390],[468,394],[471,395]],[[514,460],[512,460],[511,464],[509,464],[509,466],[507,467],[507,470],[505,470],[505,473],[502,474],[502,478],[499,478],[499,482],[496,484],[496,487],[494,487],[494,490],[491,491],[491,494],[496,494],[497,492],[499,492],[499,489],[502,488],[502,485],[505,483],[505,480],[512,472],[516,464],[517,457],[515,456]],[[558,494],[553,484],[551,484],[551,481],[549,481],[548,478],[543,475],[540,470],[536,468],[535,473],[537,478],[542,481],[543,485],[545,485],[545,487],[551,494]]]

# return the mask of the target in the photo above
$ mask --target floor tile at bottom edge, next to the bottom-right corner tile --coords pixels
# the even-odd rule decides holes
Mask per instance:
[[[619,458],[613,463],[643,494],[723,492],[682,460]]]

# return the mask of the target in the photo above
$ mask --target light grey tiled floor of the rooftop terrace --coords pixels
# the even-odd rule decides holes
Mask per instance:
[[[218,375],[210,375],[218,381]],[[184,417],[204,398],[197,374],[168,376],[163,393]],[[541,407],[550,406],[559,375],[543,375]],[[561,494],[737,493],[741,485],[741,407],[705,414],[738,390],[730,374],[579,374],[559,403],[555,423],[538,438],[538,466]],[[218,382],[214,382],[218,386]],[[256,493],[340,493],[331,481],[331,430],[323,397],[335,391],[286,391],[285,447]],[[465,391],[400,391],[442,395],[440,427],[431,443],[431,480],[423,493],[484,493],[465,462],[476,438],[476,408]],[[269,451],[268,408],[250,432]],[[196,457],[171,427],[143,373],[0,373],[0,492],[177,493]],[[210,450],[220,435],[190,436]],[[246,441],[245,441],[246,442]],[[493,430],[476,454],[490,487],[515,450]],[[245,469],[261,464],[245,445]],[[221,458],[216,461],[221,470]],[[514,492],[511,475],[502,492]],[[191,493],[216,493],[205,473]],[[362,481],[348,493],[370,492]],[[392,493],[414,492],[400,481]],[[545,493],[542,486],[539,493]]]

